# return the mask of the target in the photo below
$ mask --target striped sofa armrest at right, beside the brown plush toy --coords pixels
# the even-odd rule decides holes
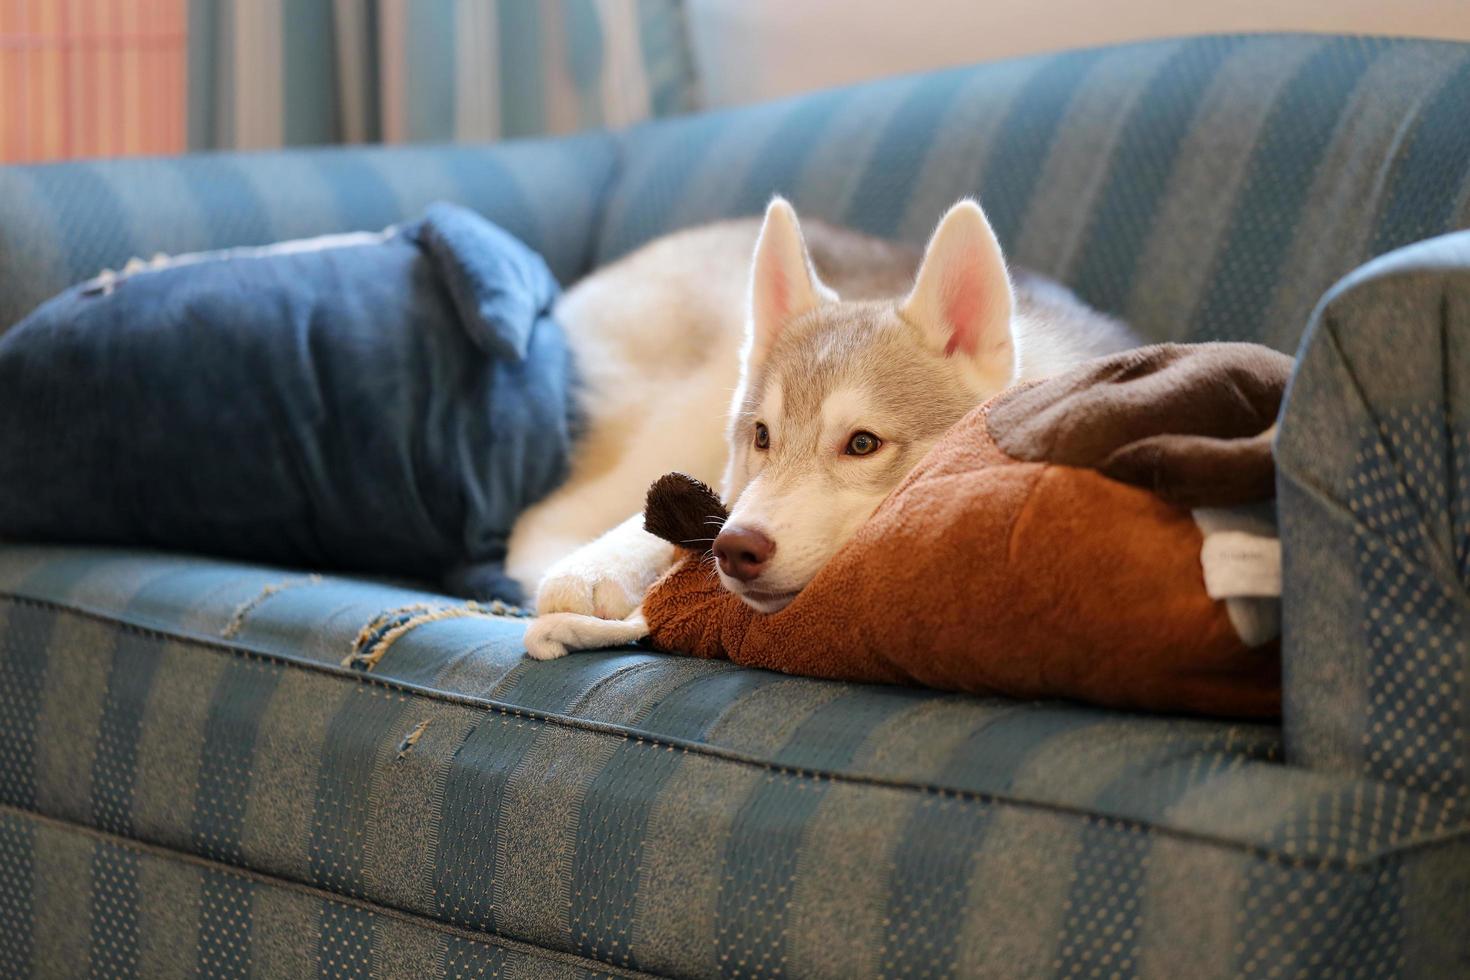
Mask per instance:
[[[1470,796],[1470,232],[1322,300],[1277,485],[1288,758]]]

